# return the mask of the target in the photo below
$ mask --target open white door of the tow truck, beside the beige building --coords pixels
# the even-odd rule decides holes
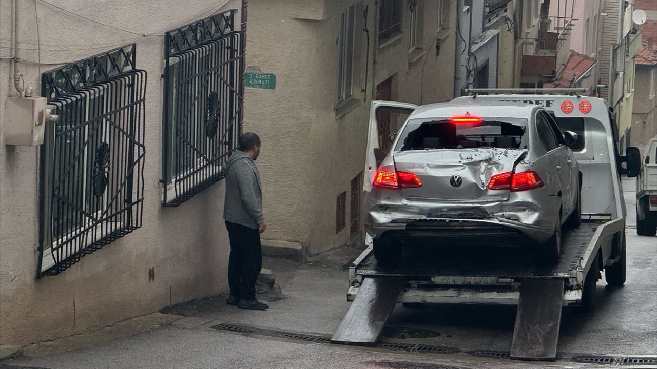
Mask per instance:
[[[376,176],[376,169],[378,165],[386,158],[388,155],[387,152],[382,150],[381,144],[388,141],[388,133],[394,134],[395,132],[390,132],[391,125],[391,115],[392,114],[404,114],[409,115],[418,106],[415,104],[409,104],[407,102],[395,102],[395,101],[380,101],[373,100],[370,106],[370,117],[369,117],[369,129],[367,133],[367,155],[365,156],[365,178],[363,179],[363,210],[367,210],[367,204],[369,204],[369,195],[372,191],[372,183],[374,182],[374,176]],[[382,128],[382,129],[380,129]],[[380,132],[380,130],[388,132]],[[385,136],[385,137],[384,137]],[[385,140],[385,141],[384,141]],[[393,150],[392,146],[390,150]],[[362,212],[361,214],[367,216],[367,211]],[[369,235],[365,235],[365,244],[370,245],[372,239]]]

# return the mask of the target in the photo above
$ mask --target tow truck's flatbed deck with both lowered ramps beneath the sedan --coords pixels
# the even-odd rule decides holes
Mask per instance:
[[[430,301],[427,296],[445,295],[448,290],[470,290],[473,294],[495,290],[515,293],[512,303],[518,304],[510,356],[555,360],[564,293],[577,288],[581,283],[578,279],[588,271],[589,256],[597,252],[591,245],[599,237],[598,226],[583,223],[564,235],[561,259],[551,266],[533,262],[516,248],[434,248],[429,253],[419,248],[414,250],[416,255],[405,255],[401,267],[384,270],[369,248],[351,267],[352,277],[360,284],[353,287],[357,294],[331,341],[374,345],[395,304],[413,302],[405,299],[413,293],[416,295],[411,297]],[[599,247],[599,242],[593,244]],[[438,301],[447,300],[449,296]]]

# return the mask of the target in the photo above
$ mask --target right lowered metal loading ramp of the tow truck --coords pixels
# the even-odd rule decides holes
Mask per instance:
[[[562,279],[522,280],[511,343],[511,358],[556,359],[563,296]]]

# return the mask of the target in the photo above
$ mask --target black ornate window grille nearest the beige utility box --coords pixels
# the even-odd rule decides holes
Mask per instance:
[[[141,227],[146,78],[134,44],[41,76],[59,118],[39,159],[37,278]]]

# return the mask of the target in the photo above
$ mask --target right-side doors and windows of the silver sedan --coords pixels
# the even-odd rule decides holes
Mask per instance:
[[[551,131],[555,135],[555,140],[559,146],[557,150],[560,167],[561,167],[561,185],[562,185],[562,197],[564,198],[564,203],[568,204],[568,209],[564,209],[565,212],[569,213],[577,203],[577,192],[578,188],[578,169],[577,161],[575,156],[572,153],[572,150],[566,145],[564,140],[564,135],[556,125],[555,119],[552,119],[550,114],[547,112],[541,112],[544,118],[547,120],[547,123],[550,126]]]

